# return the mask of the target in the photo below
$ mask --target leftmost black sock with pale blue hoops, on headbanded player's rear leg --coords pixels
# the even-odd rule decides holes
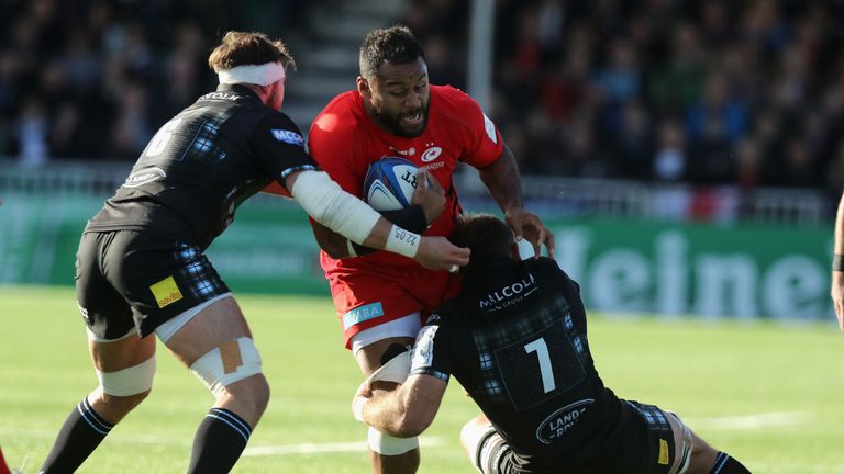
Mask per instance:
[[[112,425],[100,418],[88,403],[88,397],[85,397],[67,416],[40,472],[49,474],[76,471],[111,428]]]

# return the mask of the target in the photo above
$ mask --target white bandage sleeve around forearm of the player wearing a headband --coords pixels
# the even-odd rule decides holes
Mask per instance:
[[[381,218],[324,171],[301,171],[290,193],[314,221],[357,244],[363,245]]]

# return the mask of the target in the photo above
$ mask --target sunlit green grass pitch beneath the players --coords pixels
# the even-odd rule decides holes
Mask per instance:
[[[273,387],[249,447],[353,443],[362,376],[342,348],[327,297],[238,298]],[[0,287],[0,445],[33,473],[67,413],[95,385],[84,324],[70,290]],[[713,445],[754,473],[844,473],[842,343],[832,325],[707,324],[593,316],[590,343],[621,397],[677,411]],[[82,473],[179,473],[197,424],[212,403],[201,383],[160,346],[147,400],[106,439]],[[473,473],[459,448],[476,414],[459,386],[423,435],[420,473]],[[774,414],[774,415],[770,415]],[[763,416],[764,415],[764,416]],[[736,417],[749,418],[736,418]],[[247,455],[236,473],[367,473],[364,451]]]

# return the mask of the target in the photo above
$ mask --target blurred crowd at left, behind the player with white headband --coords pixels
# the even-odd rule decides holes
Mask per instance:
[[[296,0],[0,0],[0,156],[135,160],[215,87],[231,29],[280,35]]]

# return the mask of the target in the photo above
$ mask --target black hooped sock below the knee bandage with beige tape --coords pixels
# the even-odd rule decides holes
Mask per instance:
[[[237,462],[252,428],[225,408],[211,408],[193,437],[189,473],[227,473]]]

